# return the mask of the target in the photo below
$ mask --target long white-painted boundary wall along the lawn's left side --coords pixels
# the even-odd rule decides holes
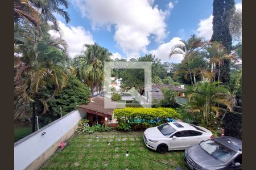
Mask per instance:
[[[79,111],[73,111],[38,131],[14,143],[14,169],[24,169],[53,143],[77,125],[81,117]],[[46,134],[42,135],[43,132]]]

